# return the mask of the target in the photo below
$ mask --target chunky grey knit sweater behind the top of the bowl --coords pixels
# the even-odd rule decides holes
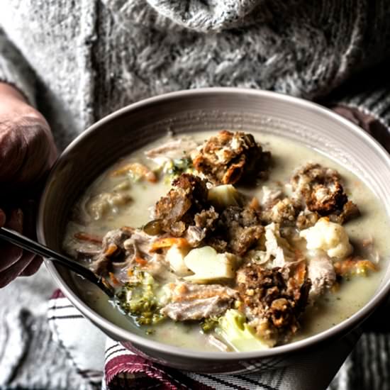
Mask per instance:
[[[386,0],[11,0],[0,26],[35,72],[62,148],[116,108],[167,91],[325,96],[389,55],[389,17]],[[29,94],[29,80],[18,87]]]

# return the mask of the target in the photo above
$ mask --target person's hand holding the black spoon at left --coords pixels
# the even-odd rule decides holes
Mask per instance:
[[[45,118],[0,83],[0,226],[35,238],[35,201],[57,156]],[[35,273],[42,259],[0,242],[0,287]]]

